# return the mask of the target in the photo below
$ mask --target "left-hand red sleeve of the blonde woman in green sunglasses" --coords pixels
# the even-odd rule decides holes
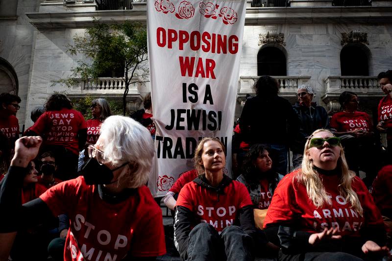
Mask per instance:
[[[294,173],[293,173],[294,174]],[[295,203],[293,174],[286,175],[273,193],[270,207],[268,208],[264,228],[278,223],[288,223],[300,213]],[[307,195],[305,195],[307,197]]]

